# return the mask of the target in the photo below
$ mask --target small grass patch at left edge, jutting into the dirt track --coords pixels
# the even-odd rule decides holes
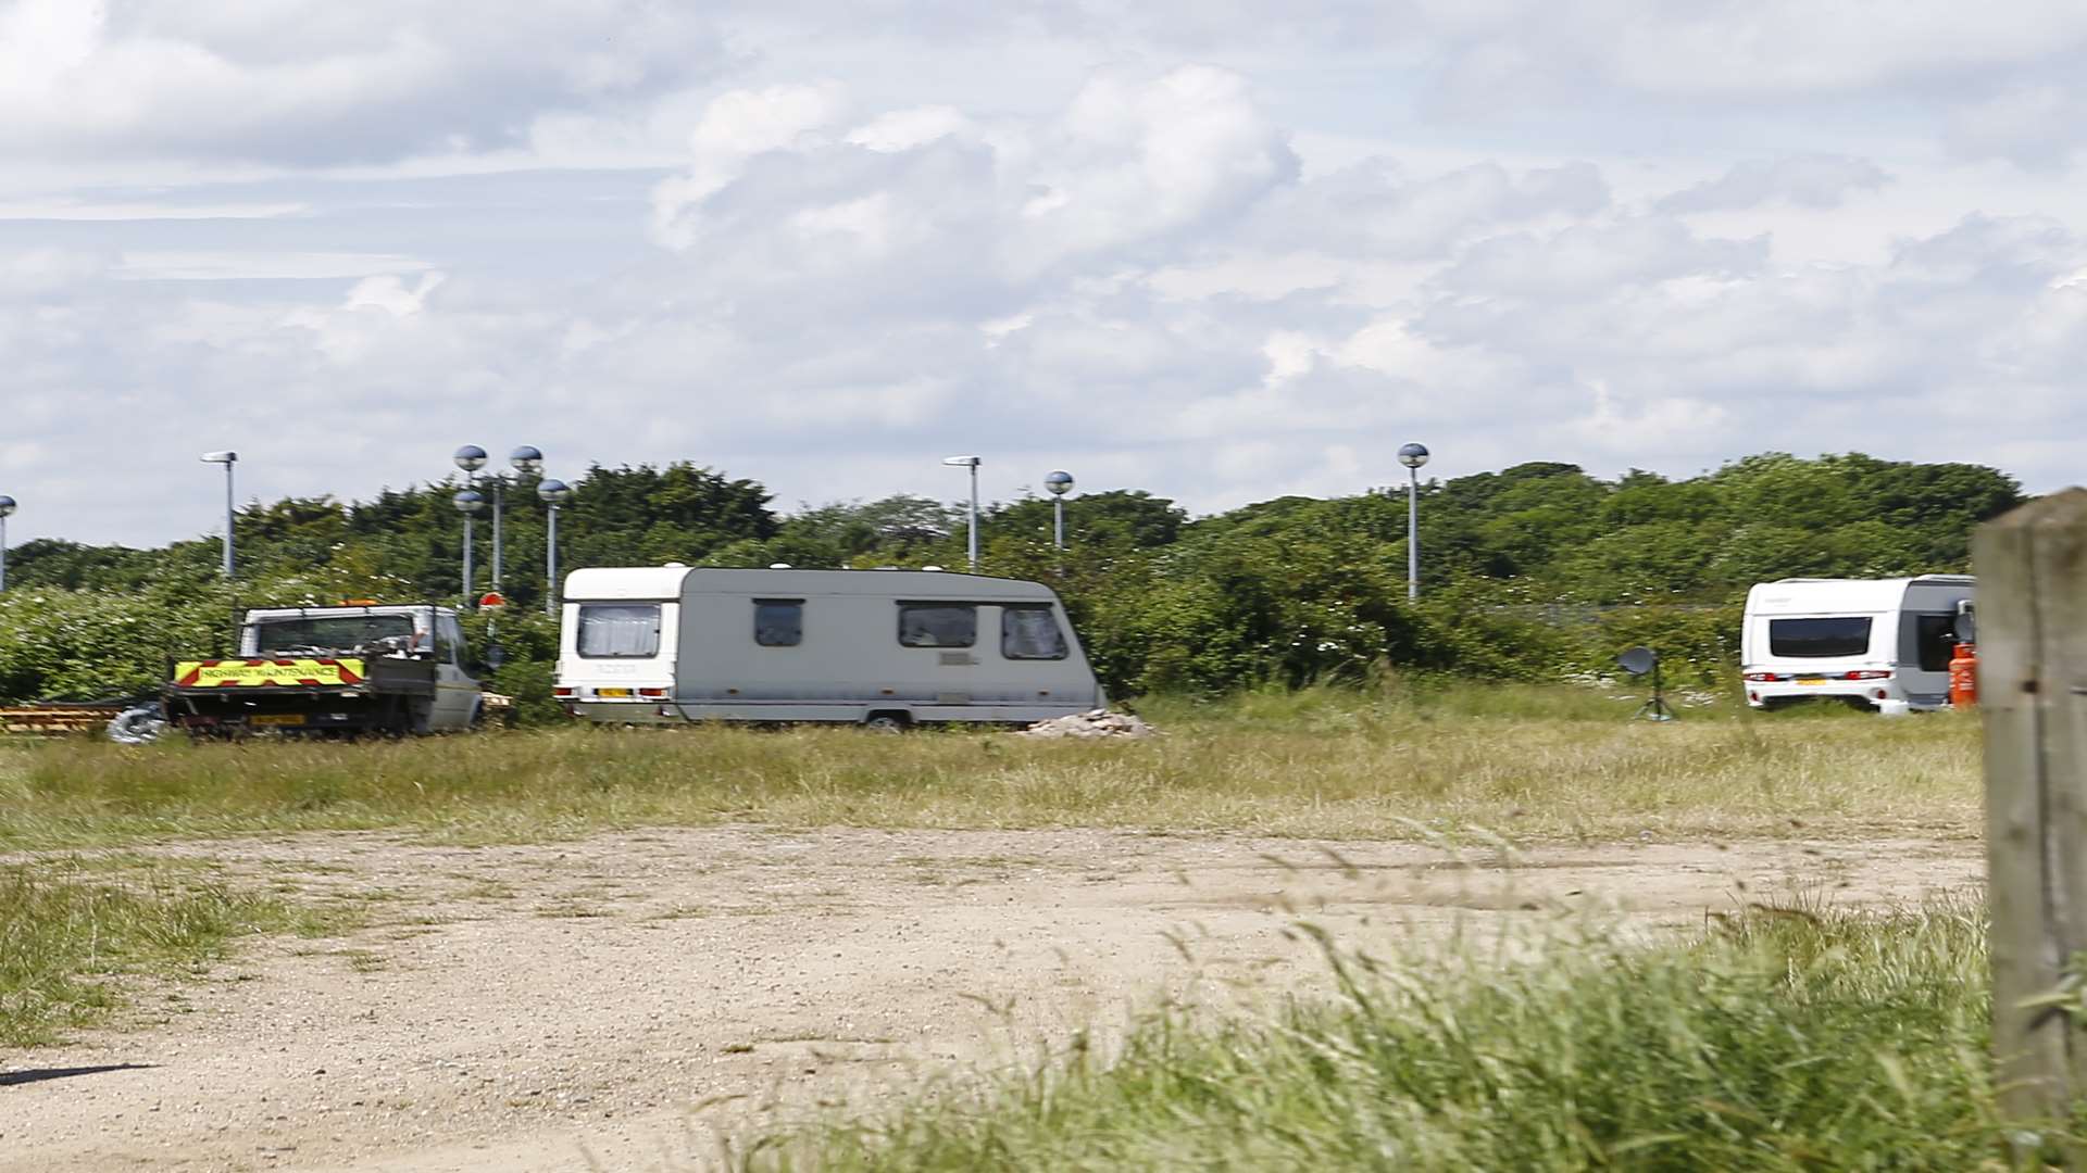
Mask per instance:
[[[40,860],[0,866],[0,1046],[40,1046],[109,1019],[125,977],[194,977],[250,933],[319,931],[265,893],[198,868]]]

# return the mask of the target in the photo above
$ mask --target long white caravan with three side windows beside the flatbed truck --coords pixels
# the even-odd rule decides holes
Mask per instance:
[[[935,570],[574,570],[553,693],[599,722],[1033,722],[1106,705],[1058,595]]]

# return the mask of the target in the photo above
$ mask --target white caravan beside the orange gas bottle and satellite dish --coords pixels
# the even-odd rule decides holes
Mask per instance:
[[[1949,657],[1972,639],[1972,578],[1784,578],[1747,591],[1738,655],[1747,703],[1843,697],[1949,703]]]

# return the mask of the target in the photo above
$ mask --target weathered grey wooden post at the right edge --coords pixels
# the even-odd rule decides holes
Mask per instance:
[[[2010,1115],[2060,1117],[2087,1096],[2087,1033],[2049,1002],[2087,952],[2087,488],[1981,526],[1972,564],[1995,1075]]]

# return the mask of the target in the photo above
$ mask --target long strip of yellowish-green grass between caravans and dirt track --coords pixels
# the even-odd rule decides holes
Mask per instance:
[[[1144,743],[555,728],[403,743],[0,745],[0,849],[397,829],[1123,827],[1311,837],[1974,835],[1978,728],[1935,714],[1624,720],[1590,689],[1156,701]]]

